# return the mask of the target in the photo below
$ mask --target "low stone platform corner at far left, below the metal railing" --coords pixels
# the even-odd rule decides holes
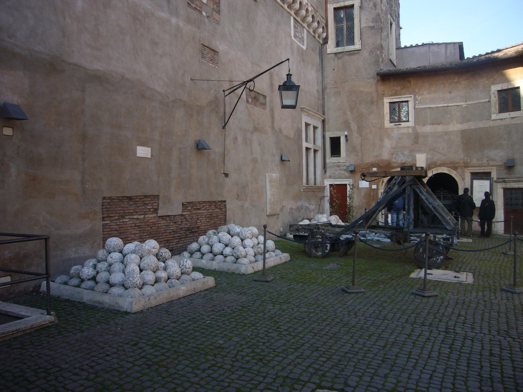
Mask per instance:
[[[0,301],[0,313],[20,318],[0,325],[0,341],[24,335],[24,333],[46,327],[58,321],[54,314],[48,316],[45,310],[2,301]]]

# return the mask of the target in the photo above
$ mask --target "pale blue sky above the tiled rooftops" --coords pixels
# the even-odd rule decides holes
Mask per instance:
[[[523,0],[400,0],[401,45],[463,42],[465,57],[523,42]]]

